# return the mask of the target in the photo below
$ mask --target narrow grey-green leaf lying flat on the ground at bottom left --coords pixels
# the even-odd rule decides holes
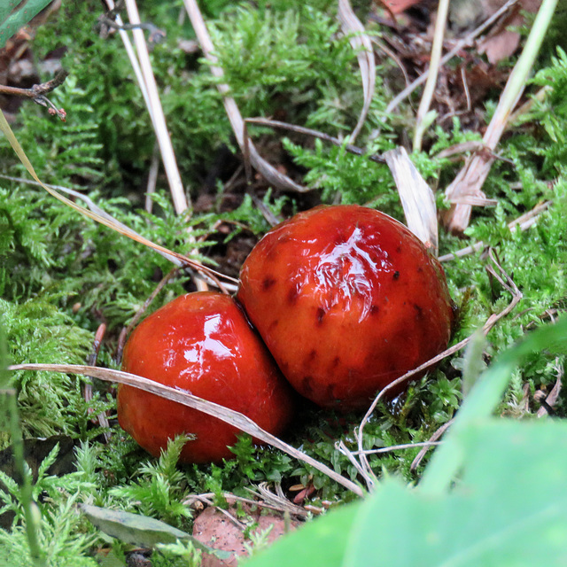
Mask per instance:
[[[189,533],[182,532],[152,517],[140,516],[121,510],[98,508],[88,504],[81,504],[80,508],[90,522],[96,525],[101,532],[126,543],[153,548],[158,543],[175,543],[177,540],[185,540],[190,541],[195,548],[206,553],[214,553],[220,559],[228,559],[230,556],[228,552],[209,548]]]

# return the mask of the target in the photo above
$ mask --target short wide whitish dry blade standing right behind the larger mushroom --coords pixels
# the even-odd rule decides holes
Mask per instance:
[[[405,148],[386,151],[384,158],[400,193],[408,229],[437,254],[439,235],[433,191],[409,159]]]

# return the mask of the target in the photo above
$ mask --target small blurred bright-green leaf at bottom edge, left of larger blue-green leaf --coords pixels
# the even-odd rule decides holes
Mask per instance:
[[[348,533],[360,503],[348,504],[284,536],[245,567],[338,567],[345,555]]]

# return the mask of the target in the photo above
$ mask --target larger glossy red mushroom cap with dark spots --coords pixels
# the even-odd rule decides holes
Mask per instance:
[[[447,347],[452,301],[439,261],[400,222],[320,206],[270,230],[237,299],[302,395],[368,408],[378,391]]]

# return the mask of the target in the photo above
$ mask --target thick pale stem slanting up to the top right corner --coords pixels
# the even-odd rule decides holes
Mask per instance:
[[[466,160],[462,170],[445,191],[449,201],[463,193],[484,197],[481,188],[493,165],[492,152],[496,149],[501,135],[508,125],[510,113],[512,113],[524,92],[525,83],[532,71],[533,63],[540,50],[540,45],[551,22],[556,5],[557,0],[543,0],[541,3],[524,50],[522,50],[522,54],[512,69],[493,114],[493,119],[486,128],[485,136],[483,136],[483,143],[488,151],[480,151]],[[447,229],[453,233],[462,233],[469,226],[471,211],[472,206],[470,205],[456,204],[452,206],[444,215],[444,223]]]

